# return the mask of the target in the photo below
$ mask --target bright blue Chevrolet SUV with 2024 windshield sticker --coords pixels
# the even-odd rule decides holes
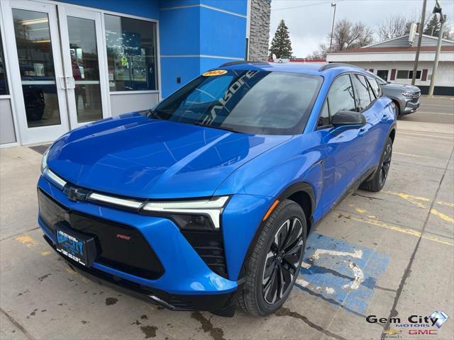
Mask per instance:
[[[307,234],[358,186],[380,191],[396,117],[339,64],[223,64],[153,109],[72,130],[38,181],[46,241],[74,270],[174,310],[265,316]]]

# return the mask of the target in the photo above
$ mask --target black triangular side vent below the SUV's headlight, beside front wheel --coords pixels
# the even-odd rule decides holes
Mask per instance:
[[[221,231],[199,232],[183,229],[182,234],[211,271],[228,278]]]

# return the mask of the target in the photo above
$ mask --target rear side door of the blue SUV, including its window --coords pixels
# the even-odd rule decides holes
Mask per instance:
[[[366,125],[360,132],[361,143],[364,148],[362,174],[377,165],[382,152],[382,138],[380,133],[380,119],[382,118],[382,103],[377,101],[370,83],[363,74],[353,74],[356,106],[366,118]]]

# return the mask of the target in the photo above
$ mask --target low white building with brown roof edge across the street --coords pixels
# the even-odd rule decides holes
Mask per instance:
[[[386,81],[411,84],[418,34],[409,34],[351,50],[328,53],[328,62],[346,62],[367,69]],[[416,72],[416,86],[422,94],[431,84],[438,38],[423,35]],[[454,96],[454,41],[443,39],[433,94]]]

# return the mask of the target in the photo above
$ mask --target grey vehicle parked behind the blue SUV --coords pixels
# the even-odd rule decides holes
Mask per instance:
[[[382,88],[383,95],[391,98],[397,106],[397,118],[414,113],[419,109],[421,90],[418,86],[390,83],[375,76]]]

